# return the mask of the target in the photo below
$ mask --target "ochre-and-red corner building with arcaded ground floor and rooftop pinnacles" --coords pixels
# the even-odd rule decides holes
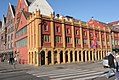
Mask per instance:
[[[28,63],[36,66],[102,60],[112,51],[111,30],[101,25],[44,16],[40,11],[27,19]]]

